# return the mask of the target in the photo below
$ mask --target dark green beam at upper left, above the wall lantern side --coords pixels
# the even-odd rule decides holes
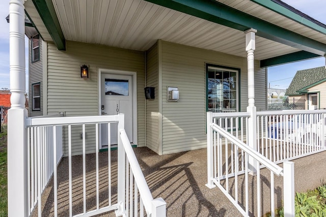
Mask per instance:
[[[58,50],[66,50],[66,39],[51,0],[32,0]]]

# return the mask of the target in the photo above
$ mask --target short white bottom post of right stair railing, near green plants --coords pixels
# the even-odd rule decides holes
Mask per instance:
[[[283,163],[284,217],[294,216],[294,163]]]

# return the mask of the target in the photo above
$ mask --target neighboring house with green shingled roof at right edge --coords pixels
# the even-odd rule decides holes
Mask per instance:
[[[286,95],[294,99],[294,103],[305,102],[305,109],[326,108],[326,69],[318,67],[297,71]]]

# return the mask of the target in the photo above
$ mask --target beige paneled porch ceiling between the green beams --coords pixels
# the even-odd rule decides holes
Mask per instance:
[[[52,0],[52,2],[66,40],[145,51],[157,39],[162,39],[247,56],[243,32],[149,2],[141,0]],[[257,37],[256,40],[256,59],[299,51],[261,37]]]

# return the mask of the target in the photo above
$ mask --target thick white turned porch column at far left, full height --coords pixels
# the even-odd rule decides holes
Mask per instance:
[[[11,109],[8,111],[8,214],[28,216],[24,0],[10,0],[9,15]]]

